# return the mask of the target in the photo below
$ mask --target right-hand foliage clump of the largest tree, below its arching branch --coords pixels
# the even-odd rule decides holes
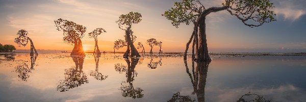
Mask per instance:
[[[232,15],[237,16],[245,25],[249,27],[258,27],[263,23],[276,21],[273,11],[273,3],[269,0],[230,0],[222,4],[228,6],[227,10]],[[248,21],[250,20],[250,21]],[[250,24],[255,22],[255,24]]]

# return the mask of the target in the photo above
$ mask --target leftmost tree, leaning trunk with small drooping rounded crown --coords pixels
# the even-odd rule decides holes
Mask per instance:
[[[37,51],[36,51],[36,49],[35,49],[35,47],[34,47],[34,44],[33,44],[32,39],[30,39],[29,37],[27,37],[28,32],[25,31],[25,30],[19,30],[18,33],[17,33],[17,35],[18,35],[18,37],[15,38],[15,41],[14,41],[14,42],[15,42],[16,44],[18,44],[19,47],[20,47],[20,46],[25,46],[25,45],[27,45],[28,42],[30,41],[30,44],[31,44],[30,56],[32,56],[32,57],[34,56],[34,51],[35,51],[35,56],[37,56],[38,54],[37,54]]]

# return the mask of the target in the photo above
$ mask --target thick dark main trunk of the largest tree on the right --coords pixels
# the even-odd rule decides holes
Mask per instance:
[[[208,54],[207,40],[206,40],[206,24],[205,16],[199,18],[199,49],[197,61],[200,62],[211,62]]]

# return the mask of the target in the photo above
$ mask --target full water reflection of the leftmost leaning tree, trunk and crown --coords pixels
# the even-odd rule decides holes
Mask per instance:
[[[18,73],[18,78],[20,78],[22,81],[27,81],[27,79],[30,77],[29,73],[34,70],[34,65],[36,61],[37,56],[31,56],[31,67],[29,68],[28,64],[23,62],[15,67],[15,71]]]

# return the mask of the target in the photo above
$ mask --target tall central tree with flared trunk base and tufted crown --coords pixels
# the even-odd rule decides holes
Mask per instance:
[[[127,41],[127,49],[123,55],[123,57],[125,58],[129,57],[130,47],[131,47],[131,57],[140,57],[139,53],[137,52],[137,49],[135,48],[132,42],[133,40],[131,37],[133,37],[133,35],[131,33],[132,31],[131,27],[132,24],[139,23],[141,21],[141,17],[142,17],[141,14],[138,12],[130,12],[129,14],[120,15],[119,20],[116,21],[116,23],[119,24],[119,28],[125,31],[125,39]]]

